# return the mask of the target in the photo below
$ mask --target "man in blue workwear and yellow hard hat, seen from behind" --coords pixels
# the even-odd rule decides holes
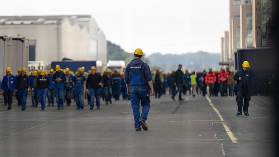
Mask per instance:
[[[131,95],[131,105],[134,114],[136,131],[148,130],[145,123],[150,109],[150,97],[153,95],[153,82],[149,66],[141,58],[143,52],[140,48],[134,51],[134,59],[126,66],[125,84],[127,93]],[[140,114],[140,102],[142,113]]]

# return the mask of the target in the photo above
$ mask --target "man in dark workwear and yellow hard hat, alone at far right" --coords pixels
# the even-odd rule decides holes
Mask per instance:
[[[248,107],[250,101],[250,90],[252,86],[251,77],[253,76],[256,76],[255,72],[250,68],[249,62],[244,61],[242,63],[242,69],[238,70],[233,77],[233,79],[237,81],[237,116],[242,114],[242,110],[244,115],[249,116]]]

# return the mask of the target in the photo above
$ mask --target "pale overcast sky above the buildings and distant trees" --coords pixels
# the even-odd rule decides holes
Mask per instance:
[[[90,14],[127,52],[221,52],[229,0],[3,0],[0,16]]]

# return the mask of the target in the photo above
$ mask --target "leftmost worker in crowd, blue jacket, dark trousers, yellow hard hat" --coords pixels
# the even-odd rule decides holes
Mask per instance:
[[[11,68],[6,68],[6,75],[3,77],[1,89],[6,93],[8,100],[8,110],[12,108],[13,92],[16,86],[16,78],[11,74]]]

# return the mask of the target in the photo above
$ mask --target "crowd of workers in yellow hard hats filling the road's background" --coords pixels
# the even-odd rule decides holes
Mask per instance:
[[[207,94],[209,96],[234,96],[236,81],[233,79],[234,71],[228,67],[221,68],[220,71],[212,68],[203,71],[185,72],[179,65],[176,71],[162,73],[161,69],[156,69],[152,75],[155,98],[160,98],[166,91],[169,91],[171,98],[175,100],[175,95],[179,94],[178,100],[184,100],[182,95]],[[124,82],[124,73],[114,69],[106,69],[103,74],[96,72],[96,67],[92,66],[88,72],[84,67],[78,68],[74,73],[69,68],[60,69],[56,65],[55,70],[34,70],[26,75],[26,69],[18,69],[16,76],[11,74],[11,69],[6,68],[6,76],[3,77],[1,89],[8,110],[11,109],[13,96],[17,99],[18,106],[22,110],[26,108],[26,97],[28,91],[31,93],[31,107],[38,107],[41,103],[42,110],[47,106],[54,106],[56,97],[57,109],[64,109],[64,103],[70,106],[72,100],[75,101],[77,108],[84,108],[84,101],[87,100],[90,109],[93,109],[96,102],[97,109],[100,109],[100,98],[105,104],[112,103],[120,99],[122,93],[123,100],[130,100],[127,94],[127,87]]]

